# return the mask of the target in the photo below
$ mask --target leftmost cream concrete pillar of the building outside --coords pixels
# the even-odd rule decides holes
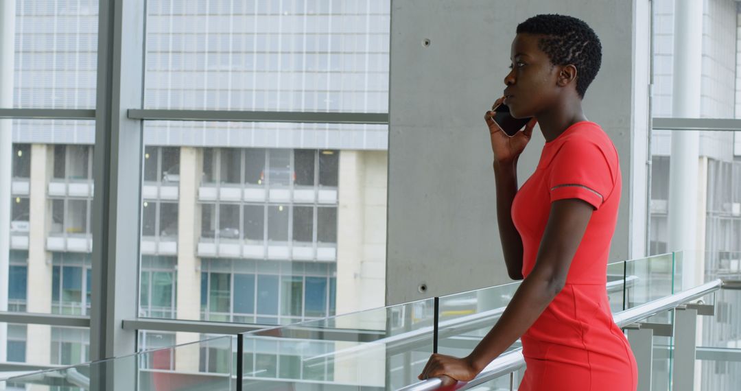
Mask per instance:
[[[52,173],[53,149],[53,145],[31,145],[27,293],[29,313],[51,313],[53,269],[51,254],[46,251],[46,238],[51,224],[47,184]],[[27,335],[27,362],[50,364],[51,327],[29,324]]]

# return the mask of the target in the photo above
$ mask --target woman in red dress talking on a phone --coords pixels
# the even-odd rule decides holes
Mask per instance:
[[[527,369],[520,391],[635,390],[635,359],[605,290],[619,160],[610,138],[582,113],[602,46],[585,22],[570,16],[534,16],[516,32],[505,96],[494,106],[504,101],[512,116],[533,119],[512,138],[491,121],[493,111],[485,121],[505,263],[511,278],[524,280],[470,355],[434,354],[419,378],[469,381],[522,338]],[[517,190],[517,160],[536,123],[545,147]]]

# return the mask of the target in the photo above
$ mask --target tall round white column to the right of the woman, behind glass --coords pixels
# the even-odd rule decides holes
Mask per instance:
[[[702,80],[702,3],[677,0],[674,6],[674,95],[672,116],[700,118]],[[669,250],[685,251],[682,262],[682,288],[699,283],[697,267],[697,167],[700,133],[675,132],[671,136],[669,167]],[[704,210],[703,210],[704,212]],[[695,248],[693,248],[695,247]]]

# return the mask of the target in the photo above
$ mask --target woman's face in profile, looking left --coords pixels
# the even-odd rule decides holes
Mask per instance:
[[[505,104],[515,118],[527,118],[550,106],[557,97],[556,75],[559,67],[551,64],[538,48],[539,36],[519,33],[512,41],[511,70],[505,77]]]

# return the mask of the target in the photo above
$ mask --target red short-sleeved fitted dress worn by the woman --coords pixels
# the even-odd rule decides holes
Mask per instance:
[[[565,287],[522,335],[527,369],[520,391],[636,390],[636,361],[612,320],[605,289],[621,188],[612,141],[598,124],[580,121],[545,143],[538,167],[514,198],[525,277],[535,266],[551,202],[579,198],[595,208]]]

